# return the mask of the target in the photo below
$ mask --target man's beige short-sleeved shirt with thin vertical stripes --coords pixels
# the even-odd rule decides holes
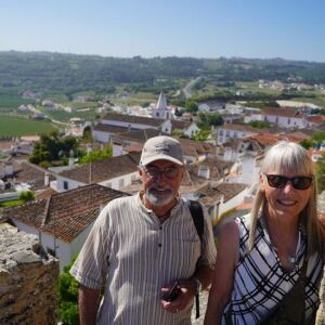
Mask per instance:
[[[70,273],[86,287],[105,286],[98,324],[191,324],[193,303],[179,313],[167,312],[160,288],[191,277],[197,260],[213,268],[214,259],[206,213],[200,243],[187,203],[180,199],[160,223],[138,194],[102,210]]]

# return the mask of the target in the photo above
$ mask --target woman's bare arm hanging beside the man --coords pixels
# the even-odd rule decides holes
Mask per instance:
[[[218,239],[217,262],[205,325],[221,324],[224,307],[231,298],[235,266],[239,258],[239,231],[236,222],[224,224]]]

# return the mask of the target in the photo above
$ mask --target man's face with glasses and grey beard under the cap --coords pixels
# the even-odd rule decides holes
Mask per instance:
[[[146,199],[151,205],[164,207],[178,195],[183,179],[183,167],[169,160],[156,160],[140,169]]]

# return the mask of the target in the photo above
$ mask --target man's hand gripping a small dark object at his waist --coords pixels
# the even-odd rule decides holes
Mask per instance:
[[[161,288],[161,297],[164,294],[168,292],[174,283],[167,285]],[[193,297],[195,296],[195,282],[193,280],[181,280],[179,281],[180,294],[172,301],[167,301],[161,298],[161,304],[165,310],[171,313],[177,313],[185,309],[190,302],[192,302]]]

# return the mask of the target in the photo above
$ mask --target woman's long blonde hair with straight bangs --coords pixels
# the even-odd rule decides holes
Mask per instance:
[[[323,251],[322,229],[317,214],[317,190],[315,184],[315,170],[308,152],[294,142],[281,141],[269,150],[261,166],[260,173],[270,171],[283,172],[290,170],[297,174],[307,174],[313,178],[312,193],[307,206],[300,212],[300,221],[303,223],[308,238],[308,255],[315,251]],[[263,214],[268,205],[264,191],[260,185],[257,190],[250,219],[250,234],[248,249],[252,249],[255,244],[255,232],[258,219]]]

